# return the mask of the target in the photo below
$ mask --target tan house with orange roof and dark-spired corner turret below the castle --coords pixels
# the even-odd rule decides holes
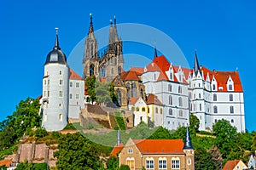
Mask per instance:
[[[129,139],[116,144],[111,156],[119,157],[119,166],[131,169],[195,169],[194,149],[187,129],[186,139]]]

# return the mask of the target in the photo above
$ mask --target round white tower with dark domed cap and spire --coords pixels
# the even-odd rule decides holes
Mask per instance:
[[[55,47],[47,55],[44,64],[42,127],[47,131],[59,131],[67,126],[68,87],[69,67],[56,32]]]

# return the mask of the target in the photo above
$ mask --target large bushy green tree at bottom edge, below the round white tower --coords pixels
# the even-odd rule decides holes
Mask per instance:
[[[58,150],[54,153],[59,169],[104,169],[95,144],[80,133],[67,133],[59,141]]]

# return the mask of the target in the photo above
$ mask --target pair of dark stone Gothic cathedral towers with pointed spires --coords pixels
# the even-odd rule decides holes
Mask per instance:
[[[95,75],[104,77],[107,82],[111,82],[123,71],[123,42],[118,35],[115,17],[113,22],[110,21],[108,48],[100,56],[90,14],[90,27],[85,40],[83,65],[84,78]]]

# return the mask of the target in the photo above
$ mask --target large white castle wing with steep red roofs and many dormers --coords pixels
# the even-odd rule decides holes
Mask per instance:
[[[146,94],[154,94],[164,107],[164,127],[189,124],[189,113],[200,120],[200,130],[210,130],[220,119],[245,132],[244,100],[237,71],[193,70],[174,66],[165,56],[155,56],[142,76]]]

